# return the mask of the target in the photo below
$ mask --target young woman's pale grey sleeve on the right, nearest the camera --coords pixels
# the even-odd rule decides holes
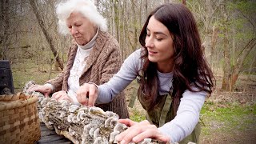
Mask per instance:
[[[199,114],[207,93],[186,90],[182,94],[176,117],[158,130],[170,136],[171,142],[179,142],[192,133],[199,120]]]

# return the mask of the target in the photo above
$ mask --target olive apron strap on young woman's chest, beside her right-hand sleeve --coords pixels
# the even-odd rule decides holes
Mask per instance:
[[[167,117],[168,111],[170,110],[171,102],[172,102],[172,98],[170,94],[168,94],[166,97],[165,105],[162,107],[162,113],[159,120],[159,127],[163,126],[166,123],[166,117]]]

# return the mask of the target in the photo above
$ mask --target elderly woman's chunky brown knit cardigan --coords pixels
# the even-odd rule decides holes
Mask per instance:
[[[75,42],[74,42],[75,43]],[[68,78],[73,66],[74,58],[78,46],[73,44],[68,52],[66,67],[62,73],[48,83],[54,86],[54,91],[68,90]],[[86,66],[79,79],[80,86],[85,82],[94,82],[101,85],[108,82],[110,78],[118,72],[122,64],[118,41],[106,32],[98,31],[95,45],[86,59]],[[118,94],[114,100],[108,104],[96,105],[103,110],[113,111],[120,118],[129,118],[125,94]]]

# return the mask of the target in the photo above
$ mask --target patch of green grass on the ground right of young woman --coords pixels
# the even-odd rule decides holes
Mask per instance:
[[[206,124],[203,132],[207,134],[216,127],[220,131],[246,130],[253,125],[256,104],[241,105],[238,102],[206,102],[202,107],[201,118]]]

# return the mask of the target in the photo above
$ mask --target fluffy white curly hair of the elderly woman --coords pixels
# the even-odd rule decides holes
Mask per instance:
[[[67,0],[60,2],[56,6],[58,16],[58,29],[61,34],[69,34],[69,29],[66,26],[66,19],[70,17],[72,12],[79,12],[84,17],[93,22],[100,30],[106,31],[106,19],[98,13],[97,7],[94,5],[94,0]]]

